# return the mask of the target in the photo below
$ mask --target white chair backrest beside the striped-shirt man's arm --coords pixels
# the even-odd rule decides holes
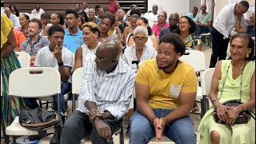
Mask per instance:
[[[72,94],[80,94],[82,88],[83,67],[74,70],[72,74]]]

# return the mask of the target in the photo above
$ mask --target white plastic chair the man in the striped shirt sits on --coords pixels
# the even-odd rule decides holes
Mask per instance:
[[[72,74],[72,110],[75,109],[75,98],[76,95],[80,94],[82,90],[82,74],[83,74],[83,67],[74,70]],[[123,124],[121,128],[116,131],[114,134],[119,134],[119,143],[124,144],[124,135],[123,135]]]

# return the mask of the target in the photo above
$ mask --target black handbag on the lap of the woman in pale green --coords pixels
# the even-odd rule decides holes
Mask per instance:
[[[238,102],[238,101],[230,101],[230,102],[223,103],[223,105],[226,105],[226,106],[239,106],[241,104],[242,102]],[[214,110],[213,115],[214,115],[215,122],[226,124],[226,122],[223,122],[218,118],[216,109]],[[238,118],[235,120],[234,124],[245,124],[249,122],[251,116],[252,115],[250,114],[249,110],[242,111],[241,113],[239,113]]]

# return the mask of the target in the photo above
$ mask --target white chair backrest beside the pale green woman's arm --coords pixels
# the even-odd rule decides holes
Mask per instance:
[[[210,92],[211,80],[214,75],[214,70],[215,68],[209,68],[202,72],[201,86],[203,95],[208,95]]]

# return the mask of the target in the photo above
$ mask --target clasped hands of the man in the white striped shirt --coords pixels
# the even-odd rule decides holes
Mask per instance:
[[[91,109],[89,111],[89,120],[95,126],[98,135],[110,141],[112,138],[111,129],[109,125],[102,121],[103,119],[104,114],[101,114],[98,110]]]

